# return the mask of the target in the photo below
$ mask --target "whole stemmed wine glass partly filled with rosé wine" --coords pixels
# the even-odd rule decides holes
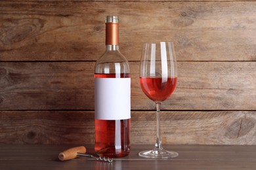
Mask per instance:
[[[177,84],[177,61],[173,42],[146,42],[140,59],[140,86],[142,91],[156,103],[156,144],[154,149],[139,152],[144,158],[175,158],[179,154],[161,146],[160,105],[175,90]]]

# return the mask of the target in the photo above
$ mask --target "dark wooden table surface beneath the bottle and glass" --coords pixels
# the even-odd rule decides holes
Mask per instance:
[[[66,145],[0,145],[0,169],[256,169],[256,146],[165,145],[179,152],[171,160],[140,158],[140,150],[152,145],[132,145],[131,153],[112,163],[79,157],[59,161]],[[88,145],[93,152],[93,145]]]

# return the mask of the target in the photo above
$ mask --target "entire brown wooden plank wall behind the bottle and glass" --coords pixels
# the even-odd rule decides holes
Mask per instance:
[[[255,1],[1,1],[0,143],[93,144],[94,65],[104,18],[120,17],[131,63],[132,144],[154,144],[140,90],[142,42],[175,43],[179,78],[163,102],[163,144],[256,144]]]

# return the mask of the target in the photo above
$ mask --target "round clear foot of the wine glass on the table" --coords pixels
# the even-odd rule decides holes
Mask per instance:
[[[177,152],[173,151],[167,151],[164,149],[158,150],[144,150],[142,152],[139,152],[139,156],[144,158],[153,158],[153,159],[168,159],[168,158],[175,158],[179,156]]]

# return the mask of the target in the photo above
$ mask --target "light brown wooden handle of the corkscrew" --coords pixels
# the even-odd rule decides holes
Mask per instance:
[[[66,161],[77,158],[77,152],[85,154],[85,146],[77,146],[74,148],[69,148],[68,150],[64,150],[63,152],[60,152],[60,154],[58,154],[58,159],[61,161]]]

